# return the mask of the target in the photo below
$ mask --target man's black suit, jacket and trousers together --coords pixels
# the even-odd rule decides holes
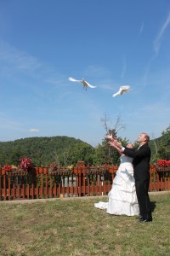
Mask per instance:
[[[123,154],[133,157],[134,179],[136,194],[139,201],[140,215],[146,218],[151,217],[150,197],[148,195],[150,184],[150,147],[145,143],[139,150],[126,148]]]

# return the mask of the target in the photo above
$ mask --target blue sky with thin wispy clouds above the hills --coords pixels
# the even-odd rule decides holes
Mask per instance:
[[[0,0],[0,141],[97,146],[101,119],[134,142],[170,124],[169,0]],[[95,89],[68,80],[86,79]],[[119,87],[131,90],[112,97]]]

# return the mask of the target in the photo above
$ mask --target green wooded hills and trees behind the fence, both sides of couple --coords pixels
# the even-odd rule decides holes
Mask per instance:
[[[122,140],[122,138],[118,138]],[[123,144],[127,139],[122,140]],[[151,163],[158,159],[170,160],[170,126],[161,137],[150,140]],[[20,158],[31,158],[34,166],[76,165],[78,160],[85,164],[119,164],[119,154],[104,140],[96,148],[74,137],[28,137],[13,142],[0,142],[0,166],[19,165]]]

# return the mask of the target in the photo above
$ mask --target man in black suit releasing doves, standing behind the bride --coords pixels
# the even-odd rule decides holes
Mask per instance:
[[[121,142],[116,139],[110,142],[114,148],[120,148],[123,154],[133,157],[134,179],[136,195],[139,202],[140,217],[142,223],[152,221],[150,209],[150,197],[148,195],[150,185],[150,147],[148,142],[150,137],[147,133],[142,132],[139,135],[139,148],[133,151],[132,148],[122,147]]]

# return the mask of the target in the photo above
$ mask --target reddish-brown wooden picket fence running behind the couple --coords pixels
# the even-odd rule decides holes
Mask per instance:
[[[118,166],[61,167],[50,172],[36,167],[31,172],[5,172],[0,168],[0,201],[107,195]],[[150,165],[150,191],[170,191],[170,172]]]

